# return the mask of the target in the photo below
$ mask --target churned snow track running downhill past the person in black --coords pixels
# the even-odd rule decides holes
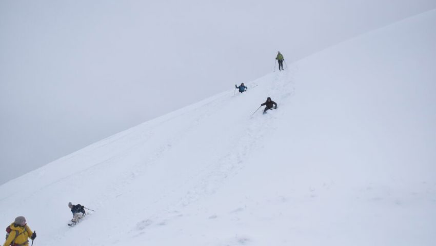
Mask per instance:
[[[273,100],[279,104],[280,110],[286,110],[286,105],[289,102],[289,98],[295,93],[295,85],[293,81],[294,73],[297,70],[295,67],[288,68],[286,72],[274,73],[270,76],[266,76],[263,79],[272,79],[272,87],[267,89],[267,93],[271,95]],[[262,81],[256,80],[256,85],[261,84]],[[234,98],[231,96],[231,98]],[[197,120],[202,120],[204,117],[210,116],[216,107],[219,107],[222,101],[212,105],[212,109],[207,110],[203,116]],[[215,109],[214,109],[215,108]],[[174,192],[181,190],[187,190],[186,193],[170,203],[161,212],[139,221],[136,224],[136,229],[131,231],[133,237],[137,237],[145,233],[144,230],[156,227],[162,227],[169,224],[171,221],[181,219],[184,213],[181,212],[185,207],[190,206],[194,202],[204,198],[205,196],[213,195],[217,189],[222,186],[226,179],[234,178],[239,171],[249,165],[250,153],[253,151],[261,151],[263,146],[263,140],[270,131],[274,130],[273,119],[279,117],[276,114],[280,111],[268,112],[267,115],[255,115],[246,119],[244,131],[240,137],[231,143],[228,147],[228,153],[217,158],[216,161],[211,162],[204,168],[199,170],[196,174],[189,178],[184,186],[185,189],[178,189]],[[200,180],[191,182],[190,180]],[[190,188],[189,188],[190,187]],[[177,196],[176,196],[177,197]],[[238,244],[245,244],[247,240],[238,240]]]

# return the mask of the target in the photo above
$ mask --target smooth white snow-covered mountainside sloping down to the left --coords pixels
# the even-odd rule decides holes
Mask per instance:
[[[25,216],[35,246],[434,245],[435,24],[375,30],[14,179],[0,224]],[[268,96],[278,110],[251,115]],[[95,212],[70,228],[69,201]]]

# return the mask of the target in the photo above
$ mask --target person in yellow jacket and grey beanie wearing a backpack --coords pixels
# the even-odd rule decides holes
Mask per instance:
[[[29,239],[36,238],[36,232],[32,232],[26,224],[26,219],[23,216],[18,216],[15,221],[9,226],[10,232],[3,246],[28,246]]]

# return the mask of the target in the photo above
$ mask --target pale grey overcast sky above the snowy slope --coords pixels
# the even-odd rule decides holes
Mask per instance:
[[[290,64],[434,8],[434,0],[2,0],[0,183],[271,72],[278,50]]]

